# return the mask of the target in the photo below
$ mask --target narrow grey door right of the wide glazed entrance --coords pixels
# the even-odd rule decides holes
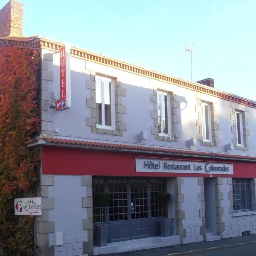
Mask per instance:
[[[206,232],[216,235],[215,178],[204,178]]]

